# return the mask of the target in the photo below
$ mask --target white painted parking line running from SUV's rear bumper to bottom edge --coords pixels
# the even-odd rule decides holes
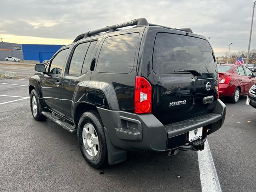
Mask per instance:
[[[219,178],[207,140],[204,143],[204,150],[198,151],[198,164],[202,192],[221,192]]]

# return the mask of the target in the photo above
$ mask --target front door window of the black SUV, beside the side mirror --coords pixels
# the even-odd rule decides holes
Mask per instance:
[[[65,64],[66,58],[68,56],[68,49],[64,49],[53,58],[50,66],[50,73],[61,74],[62,67]]]

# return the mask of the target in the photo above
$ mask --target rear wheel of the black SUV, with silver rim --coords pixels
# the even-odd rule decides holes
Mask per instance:
[[[103,168],[108,165],[106,137],[98,113],[88,111],[82,114],[77,136],[82,155],[92,167]]]

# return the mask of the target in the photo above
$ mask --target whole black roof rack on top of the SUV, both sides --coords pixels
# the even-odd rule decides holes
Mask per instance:
[[[107,32],[107,31],[108,32],[114,32],[114,31],[117,31],[119,28],[123,28],[123,27],[127,27],[127,26],[134,26],[134,25],[137,25],[137,26],[158,26],[158,27],[163,27],[163,28],[166,28],[166,29],[181,30],[181,31],[186,31],[186,32],[193,33],[190,28],[182,28],[182,29],[170,28],[170,27],[166,27],[166,26],[162,26],[162,25],[148,23],[148,21],[145,18],[138,18],[138,19],[130,20],[128,22],[123,22],[123,23],[119,23],[119,24],[116,24],[116,25],[106,26],[104,28],[100,28],[100,29],[96,29],[96,30],[93,30],[93,31],[88,31],[86,33],[82,33],[82,34],[78,35],[75,38],[74,42],[77,42],[80,39],[83,39],[83,38],[86,38],[86,37],[101,34],[101,32]]]

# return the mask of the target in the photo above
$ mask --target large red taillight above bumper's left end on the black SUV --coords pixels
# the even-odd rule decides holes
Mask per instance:
[[[152,110],[152,88],[144,77],[136,77],[135,80],[135,113],[151,113]]]

